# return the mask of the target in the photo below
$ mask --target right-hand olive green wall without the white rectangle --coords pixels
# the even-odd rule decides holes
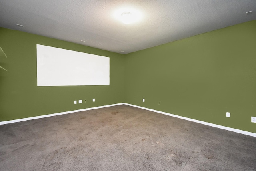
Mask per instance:
[[[256,133],[256,20],[127,54],[125,78],[126,103]]]

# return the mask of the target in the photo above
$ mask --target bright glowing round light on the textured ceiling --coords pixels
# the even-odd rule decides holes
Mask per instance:
[[[135,23],[142,19],[141,12],[134,8],[120,8],[114,12],[113,16],[124,24]]]

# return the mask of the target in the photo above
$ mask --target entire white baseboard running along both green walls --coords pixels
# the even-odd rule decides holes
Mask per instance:
[[[137,107],[137,108],[140,108],[140,109],[145,109],[145,110],[148,110],[148,111],[153,111],[153,112],[161,113],[161,114],[164,114],[164,115],[168,115],[168,116],[172,116],[172,117],[177,117],[177,118],[180,118],[180,119],[185,119],[187,121],[201,123],[201,124],[208,125],[208,126],[211,126],[211,127],[216,127],[216,128],[225,129],[225,130],[228,130],[228,131],[232,131],[232,132],[241,133],[241,134],[244,134],[244,135],[249,135],[249,136],[252,136],[252,137],[256,137],[256,133],[252,133],[252,132],[248,132],[248,131],[242,131],[240,129],[234,129],[234,128],[225,127],[225,126],[221,126],[221,125],[216,125],[216,124],[213,124],[213,123],[199,121],[199,120],[196,120],[196,119],[190,119],[188,117],[174,115],[174,114],[170,114],[170,113],[166,113],[166,112],[158,111],[158,110],[154,110],[154,109],[148,109],[146,107],[141,107],[141,106],[132,105],[132,104],[128,104],[128,103],[116,103],[116,104],[112,104],[112,105],[104,105],[104,106],[98,106],[98,107],[91,107],[91,108],[87,108],[87,109],[79,109],[79,110],[65,111],[65,112],[54,113],[54,114],[49,114],[49,115],[41,115],[41,116],[35,116],[35,117],[27,117],[27,118],[23,118],[23,119],[15,119],[15,120],[10,120],[10,121],[2,121],[2,122],[0,122],[0,125],[4,125],[4,124],[8,124],[8,123],[21,122],[21,121],[28,121],[28,120],[32,120],[32,119],[40,119],[40,118],[44,118],[44,117],[51,117],[51,116],[57,116],[57,115],[65,115],[65,114],[68,114],[68,113],[74,113],[74,112],[79,112],[79,111],[87,111],[87,110],[93,110],[93,109],[100,109],[100,108],[111,107],[111,106],[116,106],[116,105],[129,105],[129,106],[132,106],[132,107]]]

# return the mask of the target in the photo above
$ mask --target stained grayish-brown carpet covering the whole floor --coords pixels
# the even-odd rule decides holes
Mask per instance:
[[[249,171],[256,138],[127,105],[0,125],[1,171]]]

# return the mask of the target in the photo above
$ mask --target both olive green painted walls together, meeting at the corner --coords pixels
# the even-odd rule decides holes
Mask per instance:
[[[110,86],[37,87],[36,44],[110,57]],[[126,55],[5,28],[0,46],[0,121],[126,102],[256,133],[256,20]]]

